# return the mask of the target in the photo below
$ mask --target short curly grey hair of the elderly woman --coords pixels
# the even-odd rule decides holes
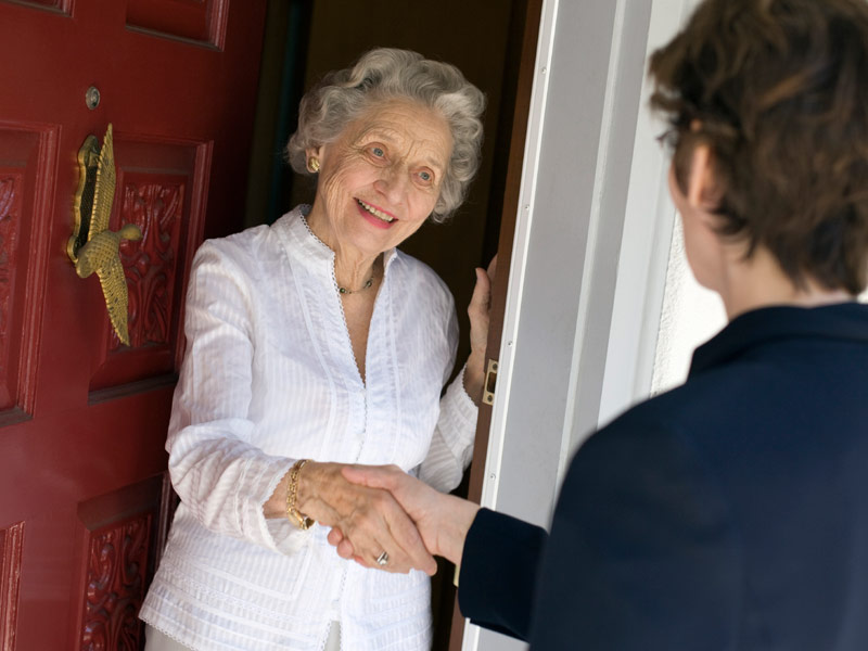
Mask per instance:
[[[485,108],[485,95],[454,65],[409,50],[378,48],[353,67],[329,73],[302,98],[286,157],[296,173],[310,175],[305,150],[335,141],[372,105],[394,99],[437,111],[449,125],[452,156],[431,214],[433,221],[444,221],[461,205],[480,167]]]

